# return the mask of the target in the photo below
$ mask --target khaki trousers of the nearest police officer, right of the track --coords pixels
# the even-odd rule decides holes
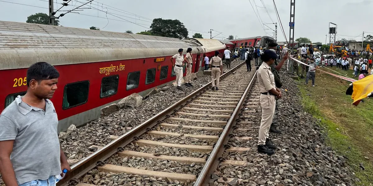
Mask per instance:
[[[276,97],[272,95],[260,94],[261,105],[261,122],[259,128],[259,142],[258,145],[265,145],[266,139],[269,137],[269,128],[271,127],[273,116],[276,109]]]

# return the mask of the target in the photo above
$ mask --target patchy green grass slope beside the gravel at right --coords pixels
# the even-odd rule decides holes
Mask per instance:
[[[334,70],[334,69],[333,69]],[[357,107],[345,91],[348,82],[325,73],[316,73],[316,87],[298,81],[306,112],[321,119],[328,145],[348,157],[348,164],[360,179],[358,185],[373,183],[373,100],[364,99]],[[369,158],[369,159],[368,159]],[[363,163],[365,170],[359,165]]]

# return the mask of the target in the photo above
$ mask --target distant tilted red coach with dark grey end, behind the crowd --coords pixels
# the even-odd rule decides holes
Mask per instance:
[[[275,39],[269,36],[257,36],[251,38],[241,38],[229,40],[234,44],[235,48],[239,47],[266,47],[270,42],[276,42]]]

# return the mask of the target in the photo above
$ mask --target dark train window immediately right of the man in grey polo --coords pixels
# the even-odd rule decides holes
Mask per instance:
[[[66,84],[65,89],[63,89],[62,109],[87,103],[89,89],[90,81]]]

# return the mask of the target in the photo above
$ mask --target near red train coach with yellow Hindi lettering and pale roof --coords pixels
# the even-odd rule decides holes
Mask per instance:
[[[59,131],[98,118],[101,108],[132,93],[174,81],[169,58],[179,48],[192,48],[192,72],[203,70],[205,51],[225,48],[215,39],[209,48],[194,40],[5,21],[0,38],[0,112],[25,94],[27,68],[45,61],[60,73],[51,99]]]

